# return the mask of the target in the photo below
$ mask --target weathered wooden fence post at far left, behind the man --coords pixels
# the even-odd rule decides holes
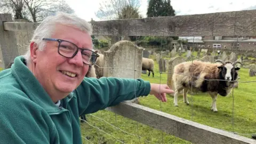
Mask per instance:
[[[0,13],[0,67],[4,69],[19,55],[15,31],[4,30],[7,21],[12,21],[12,14]]]

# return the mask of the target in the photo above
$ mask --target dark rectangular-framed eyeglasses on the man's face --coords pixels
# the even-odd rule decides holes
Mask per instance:
[[[55,38],[43,38],[44,41],[55,41],[58,42],[58,53],[66,58],[74,58],[78,50],[81,50],[83,63],[92,66],[96,62],[97,58],[100,57],[99,54],[88,50],[82,49],[75,45],[74,43]]]

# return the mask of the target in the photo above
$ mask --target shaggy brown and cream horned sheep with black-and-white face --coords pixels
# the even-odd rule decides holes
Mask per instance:
[[[236,67],[237,63],[242,65],[239,61],[231,63],[229,61],[222,62],[221,60],[216,60],[215,63],[210,63],[195,60],[193,65],[190,61],[174,66],[172,77],[175,86],[174,106],[178,106],[178,93],[182,90],[183,102],[189,105],[187,92],[192,88],[192,91],[208,92],[212,97],[211,110],[217,112],[217,95],[226,97],[230,93],[240,69]]]

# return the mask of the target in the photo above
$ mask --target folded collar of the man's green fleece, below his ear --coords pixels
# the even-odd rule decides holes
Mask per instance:
[[[22,56],[16,57],[11,71],[23,92],[28,95],[30,100],[43,107],[47,113],[59,114],[62,111],[66,111],[65,109],[59,108],[55,105],[49,94],[46,93],[34,74],[26,66],[25,58]],[[71,99],[72,97],[73,93],[70,93],[65,99]]]

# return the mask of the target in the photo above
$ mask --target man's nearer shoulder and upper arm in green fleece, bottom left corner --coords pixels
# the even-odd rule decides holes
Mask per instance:
[[[10,93],[0,93],[0,143],[54,143],[57,131],[50,116],[25,97]]]

